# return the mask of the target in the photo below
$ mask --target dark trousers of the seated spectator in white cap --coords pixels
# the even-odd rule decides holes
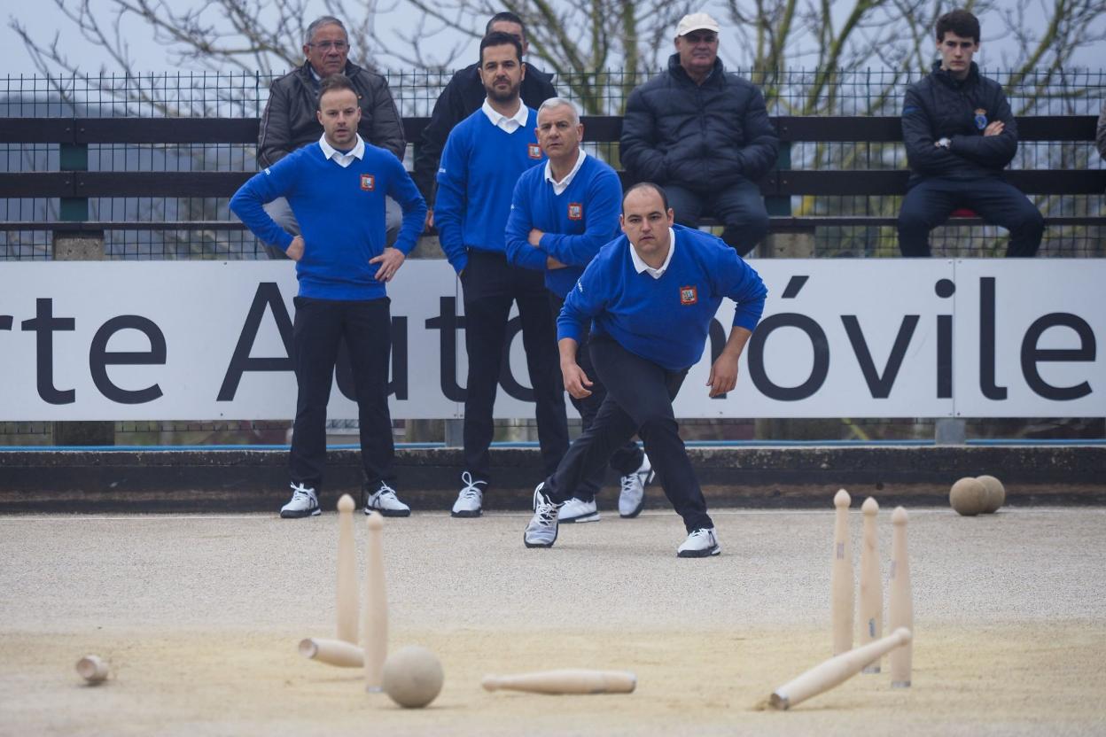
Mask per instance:
[[[676,222],[698,228],[703,212],[722,222],[722,240],[740,255],[745,255],[768,234],[768,209],[760,187],[741,179],[726,187],[692,191],[678,185],[665,185],[668,204]]]

